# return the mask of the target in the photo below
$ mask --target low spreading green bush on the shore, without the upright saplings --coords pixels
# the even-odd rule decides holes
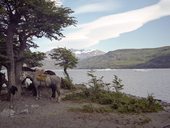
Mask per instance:
[[[109,106],[112,111],[116,110],[120,113],[145,113],[145,112],[157,112],[163,110],[163,107],[154,100],[150,101],[150,97],[137,99],[127,96],[122,93],[108,93],[100,92],[97,95],[88,96],[84,92],[72,93],[66,95],[65,100],[76,100],[95,102],[102,105]],[[90,109],[90,110],[89,110]],[[104,109],[104,108],[103,108]],[[83,111],[93,111],[92,106],[84,106]],[[95,111],[102,111],[96,110]]]

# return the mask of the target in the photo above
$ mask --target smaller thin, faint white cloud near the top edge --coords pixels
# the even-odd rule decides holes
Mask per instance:
[[[92,13],[92,12],[103,12],[103,11],[109,11],[119,8],[119,4],[113,1],[102,1],[98,3],[91,3],[86,4],[84,6],[78,7],[74,9],[75,13],[82,14],[82,13]]]

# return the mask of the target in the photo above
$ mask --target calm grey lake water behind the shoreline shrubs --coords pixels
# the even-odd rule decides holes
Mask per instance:
[[[87,83],[90,77],[86,69],[68,70],[74,83]],[[104,76],[105,82],[111,83],[113,75],[122,79],[123,92],[147,97],[153,95],[156,99],[170,103],[170,69],[96,69],[95,74]],[[59,76],[63,76],[63,70],[55,70]]]

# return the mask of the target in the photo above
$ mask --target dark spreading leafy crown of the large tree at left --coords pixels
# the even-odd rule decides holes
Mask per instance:
[[[21,40],[32,36],[60,39],[62,28],[76,23],[74,17],[69,16],[73,13],[70,8],[56,6],[50,0],[1,0],[0,8],[1,30],[7,23],[14,24],[15,34]],[[31,40],[27,43],[33,46]]]

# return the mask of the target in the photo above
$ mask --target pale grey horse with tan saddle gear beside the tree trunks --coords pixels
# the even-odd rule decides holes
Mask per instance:
[[[58,94],[57,101],[60,101],[60,86],[61,86],[61,78],[57,75],[53,75],[53,73],[44,73],[44,70],[36,69],[35,71],[23,71],[21,80],[29,77],[32,79],[33,84],[35,86],[35,90],[37,92],[36,99],[40,99],[40,88],[48,87],[51,88],[52,95],[51,97],[55,99],[56,92]]]

